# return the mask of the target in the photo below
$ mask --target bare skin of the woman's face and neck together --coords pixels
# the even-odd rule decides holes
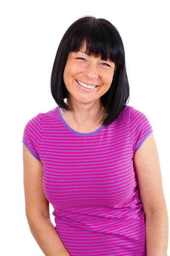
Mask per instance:
[[[68,90],[66,104],[72,112],[66,113],[60,109],[63,118],[69,115],[69,119],[77,127],[88,127],[102,113],[104,107],[100,97],[111,87],[115,64],[110,61],[102,61],[100,57],[88,56],[85,41],[79,52],[70,52],[65,65],[63,79]],[[84,52],[81,52],[84,51]],[[79,58],[79,59],[78,59]],[[85,81],[86,84],[99,85],[96,90],[85,91],[79,88],[75,79]]]

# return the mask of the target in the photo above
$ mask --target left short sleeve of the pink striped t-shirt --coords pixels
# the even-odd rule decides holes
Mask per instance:
[[[40,114],[29,120],[23,132],[23,144],[31,152],[31,154],[39,161],[39,149],[42,137],[42,122]]]

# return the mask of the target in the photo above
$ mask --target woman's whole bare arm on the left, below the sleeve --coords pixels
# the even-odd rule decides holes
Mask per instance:
[[[31,234],[45,256],[70,256],[50,220],[42,185],[42,163],[23,144],[23,181],[26,218]]]

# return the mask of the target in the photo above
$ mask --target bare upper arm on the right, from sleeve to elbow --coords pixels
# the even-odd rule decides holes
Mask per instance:
[[[133,155],[133,165],[139,187],[139,195],[147,215],[165,209],[161,168],[156,142],[151,133]]]

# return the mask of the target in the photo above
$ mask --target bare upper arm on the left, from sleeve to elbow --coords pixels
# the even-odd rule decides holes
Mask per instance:
[[[50,218],[49,202],[42,185],[42,162],[37,160],[23,144],[23,181],[27,219],[35,215]]]

